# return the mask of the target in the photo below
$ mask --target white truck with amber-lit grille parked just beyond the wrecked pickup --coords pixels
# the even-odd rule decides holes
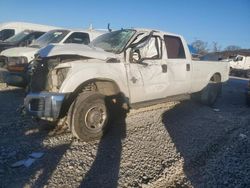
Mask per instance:
[[[103,33],[104,31],[96,30],[51,30],[35,40],[28,47],[16,47],[5,50],[0,54],[2,68],[5,68],[0,70],[0,74],[2,72],[2,79],[0,78],[0,80],[8,85],[26,87],[29,81],[27,75],[28,66],[34,60],[35,54],[39,49],[47,46],[46,50],[50,51],[54,46],[49,44],[62,45],[76,43],[87,45]]]

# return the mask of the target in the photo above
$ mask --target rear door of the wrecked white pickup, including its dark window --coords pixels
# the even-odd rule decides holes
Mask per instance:
[[[191,79],[191,62],[180,37],[164,35],[167,51],[166,63],[171,88],[171,95],[189,93]]]

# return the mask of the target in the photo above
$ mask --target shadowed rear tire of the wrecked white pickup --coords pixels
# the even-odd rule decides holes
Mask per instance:
[[[220,81],[220,76],[214,75],[209,84],[199,92],[199,100],[202,104],[213,106],[221,94],[222,85]]]

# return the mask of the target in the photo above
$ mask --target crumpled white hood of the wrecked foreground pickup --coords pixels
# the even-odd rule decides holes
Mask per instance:
[[[92,48],[83,44],[50,44],[39,50],[38,53],[41,57],[77,55],[100,60],[117,58],[117,56],[113,53],[106,52],[99,48]]]

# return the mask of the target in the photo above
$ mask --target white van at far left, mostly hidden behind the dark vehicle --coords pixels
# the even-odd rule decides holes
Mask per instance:
[[[27,22],[5,22],[0,24],[0,41],[4,41],[24,30],[47,32],[52,29],[56,29],[56,27]]]

